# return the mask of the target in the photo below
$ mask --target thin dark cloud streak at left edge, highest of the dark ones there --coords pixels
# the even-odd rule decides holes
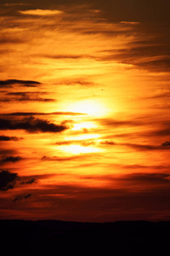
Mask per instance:
[[[37,86],[41,83],[32,80],[18,80],[18,79],[8,79],[8,80],[0,80],[0,88],[10,87],[14,84],[23,85],[23,86]]]

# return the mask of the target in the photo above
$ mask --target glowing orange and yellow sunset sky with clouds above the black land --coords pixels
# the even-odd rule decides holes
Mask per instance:
[[[0,218],[170,220],[170,3],[0,3]]]

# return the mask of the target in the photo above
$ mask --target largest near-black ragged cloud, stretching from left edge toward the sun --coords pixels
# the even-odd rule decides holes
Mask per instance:
[[[0,130],[25,130],[30,133],[34,132],[60,132],[65,131],[68,127],[65,125],[55,125],[45,119],[35,119],[30,117],[20,121],[11,121],[9,119],[0,119]]]

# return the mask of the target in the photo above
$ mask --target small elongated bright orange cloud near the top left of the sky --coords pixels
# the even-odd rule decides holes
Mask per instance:
[[[64,12],[57,9],[27,9],[20,10],[22,15],[36,15],[36,16],[51,16],[51,15],[63,15]]]

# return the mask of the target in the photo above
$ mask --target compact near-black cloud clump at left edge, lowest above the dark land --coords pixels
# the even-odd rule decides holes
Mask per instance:
[[[0,190],[5,191],[8,189],[13,189],[17,179],[17,173],[11,173],[8,171],[0,172]]]

